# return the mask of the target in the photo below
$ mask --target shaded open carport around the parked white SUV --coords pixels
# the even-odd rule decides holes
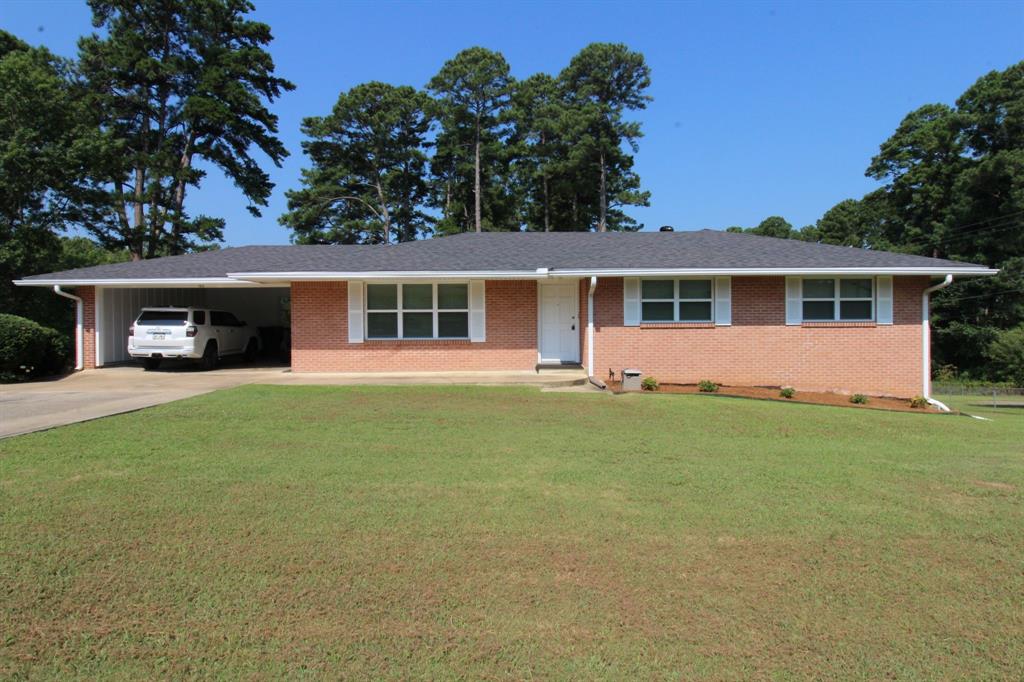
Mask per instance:
[[[255,284],[95,288],[95,367],[130,361],[128,328],[143,307],[194,306],[234,313],[260,331],[263,354],[287,355],[291,290]],[[284,350],[285,353],[282,353]]]

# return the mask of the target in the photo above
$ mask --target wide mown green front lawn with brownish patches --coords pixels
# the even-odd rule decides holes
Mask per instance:
[[[249,386],[0,441],[0,677],[1024,676],[1024,414]]]

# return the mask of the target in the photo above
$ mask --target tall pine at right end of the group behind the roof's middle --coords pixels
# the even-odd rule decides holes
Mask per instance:
[[[640,124],[625,115],[646,109],[650,69],[626,45],[592,43],[572,57],[559,80],[569,104],[568,161],[574,177],[593,182],[588,194],[597,207],[596,228],[629,227],[616,207],[648,206],[650,193],[640,190],[633,157],[623,150],[625,144],[636,153],[642,135]]]

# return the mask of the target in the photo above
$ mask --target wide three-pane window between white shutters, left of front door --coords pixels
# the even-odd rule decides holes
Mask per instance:
[[[368,339],[468,339],[469,286],[368,284]]]

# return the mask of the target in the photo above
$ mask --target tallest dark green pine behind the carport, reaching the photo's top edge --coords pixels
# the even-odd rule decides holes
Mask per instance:
[[[97,207],[86,228],[132,258],[222,239],[223,220],[189,215],[202,162],[220,169],[259,215],[272,183],[252,157],[287,156],[265,102],[294,86],[273,75],[270,29],[248,0],[90,0],[103,35],[79,42],[80,69],[104,135]]]

